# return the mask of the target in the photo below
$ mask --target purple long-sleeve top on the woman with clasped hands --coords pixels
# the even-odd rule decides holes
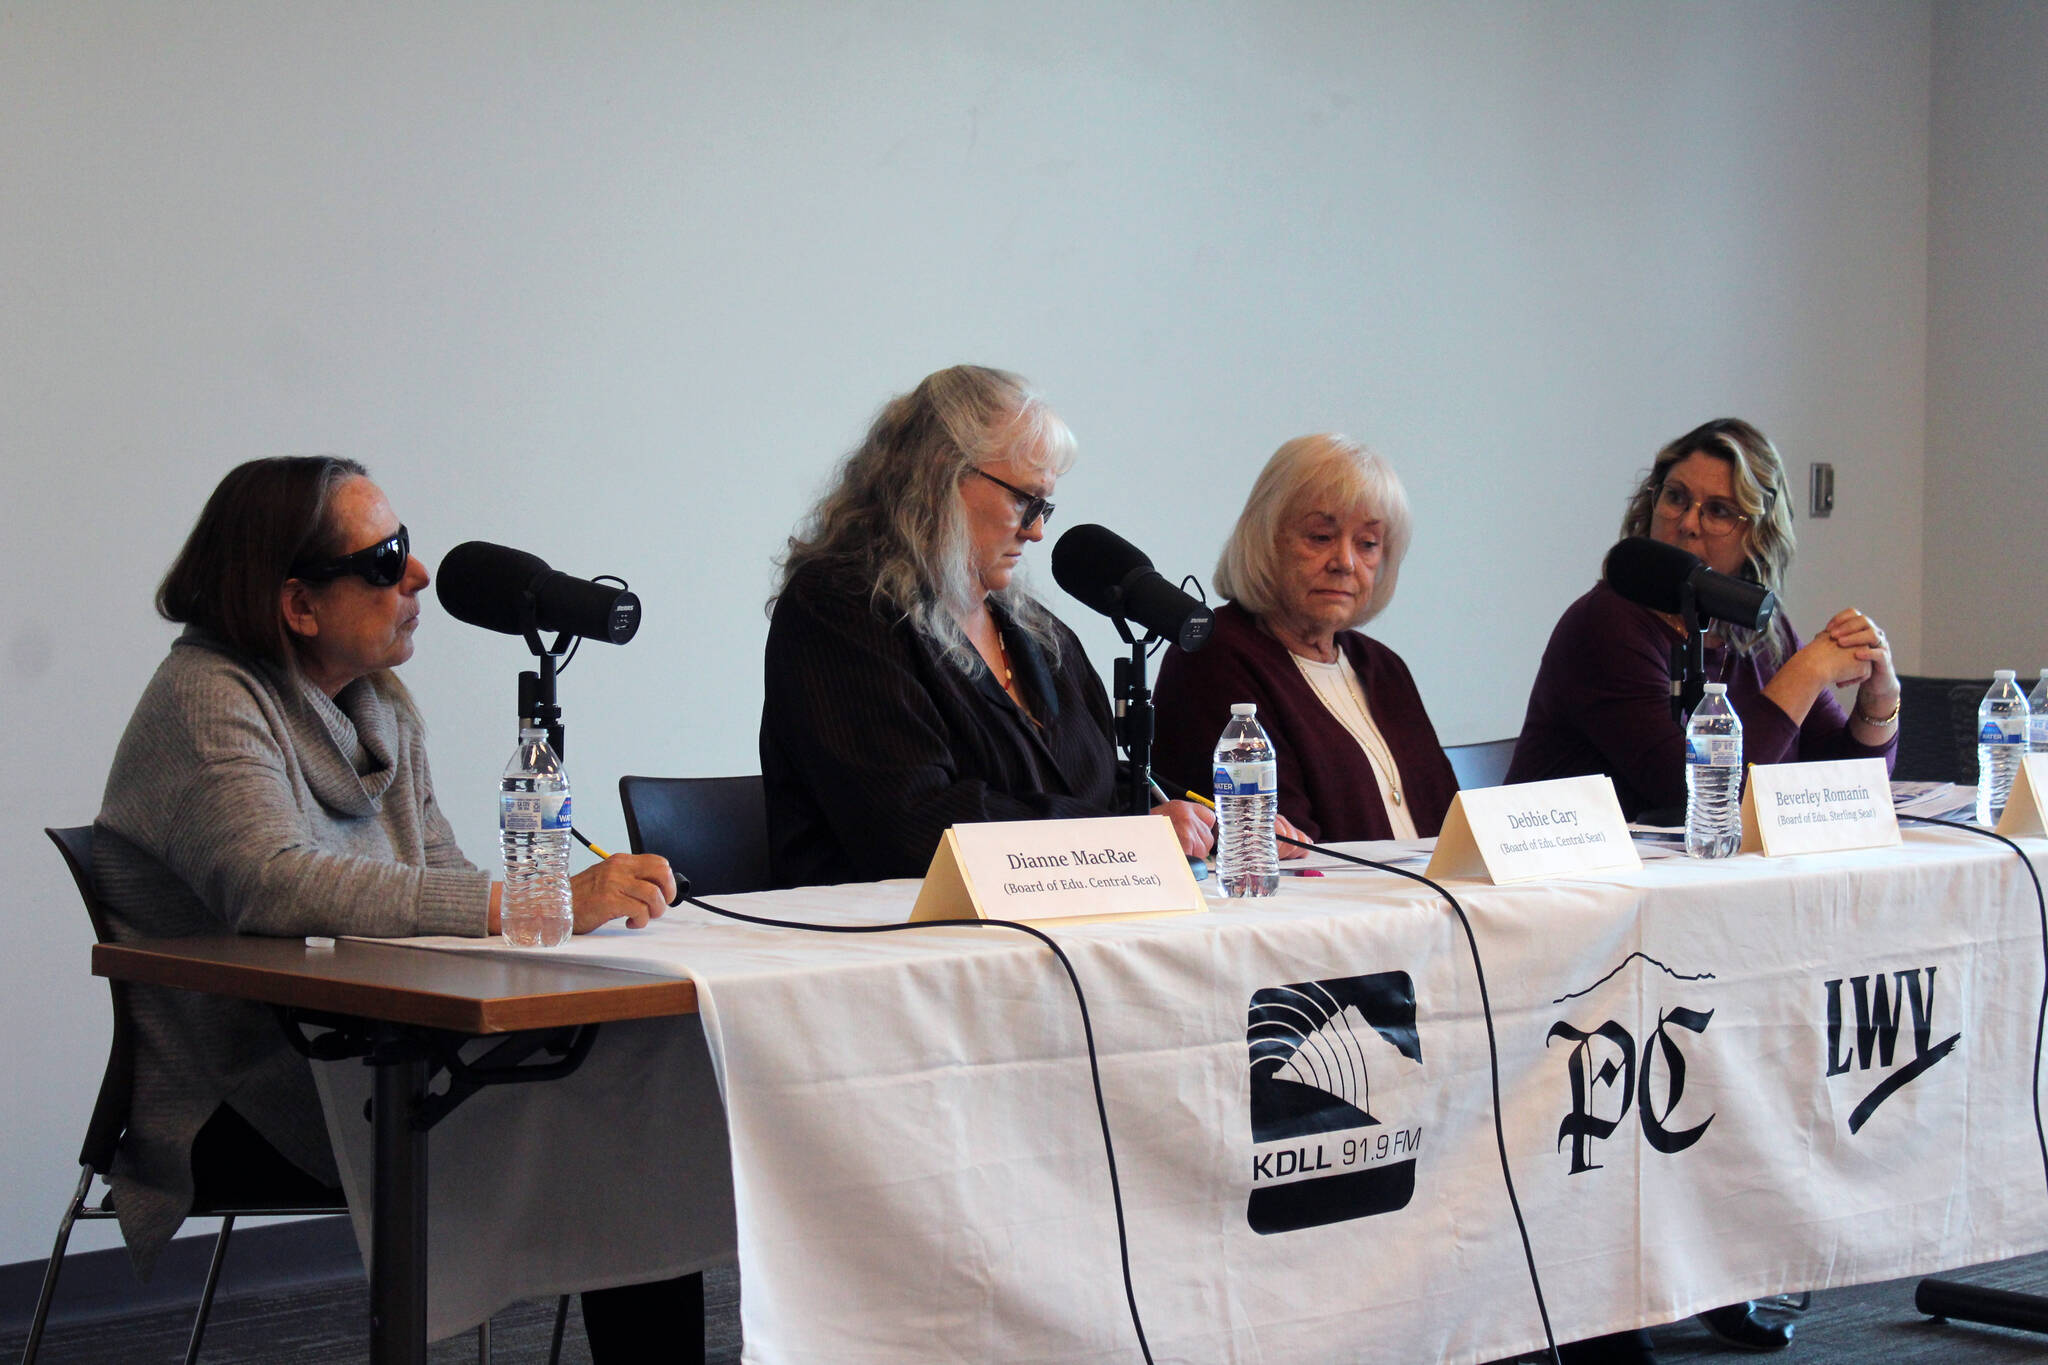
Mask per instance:
[[[1790,657],[1802,641],[1790,622],[1784,624]],[[1677,641],[1669,622],[1606,583],[1565,608],[1542,651],[1507,780],[1608,774],[1628,819],[1683,806],[1686,733],[1671,718],[1671,645]],[[1806,720],[1794,724],[1763,696],[1776,671],[1755,655],[1720,645],[1706,649],[1708,681],[1729,684],[1729,702],[1743,718],[1745,763],[1880,757],[1890,769],[1896,731],[1878,747],[1860,743],[1833,692],[1821,692]]]

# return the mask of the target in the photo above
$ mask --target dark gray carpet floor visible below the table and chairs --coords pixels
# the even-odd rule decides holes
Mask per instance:
[[[2048,1252],[2001,1261],[1999,1265],[1954,1271],[1964,1279],[2001,1289],[2048,1293]],[[1898,1279],[1882,1285],[1829,1289],[1812,1295],[1812,1310],[1798,1318],[1798,1336],[1782,1357],[1786,1365],[2007,1365],[2048,1359],[2048,1336],[1960,1322],[1929,1322],[1913,1310],[1913,1285]],[[739,1361],[739,1279],[731,1271],[705,1277],[707,1336],[713,1365]],[[553,1304],[522,1304],[492,1324],[494,1365],[543,1365]],[[365,1340],[369,1291],[360,1283],[301,1289],[291,1293],[250,1293],[223,1300],[207,1328],[207,1365],[348,1365],[369,1359]],[[92,1324],[53,1328],[43,1338],[45,1365],[147,1365],[180,1361],[190,1328],[186,1312],[137,1314]],[[1655,1332],[1659,1357],[1671,1365],[1688,1361],[1757,1359],[1729,1353],[1712,1342],[1696,1322],[1679,1322]],[[20,1359],[23,1336],[0,1336],[0,1359]],[[438,1342],[434,1365],[475,1361],[473,1336]],[[588,1365],[582,1322],[569,1310],[563,1361]],[[1309,1363],[1303,1363],[1309,1365]]]

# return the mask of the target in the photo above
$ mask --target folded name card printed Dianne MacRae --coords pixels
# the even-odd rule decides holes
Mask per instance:
[[[1174,823],[1126,814],[954,825],[909,917],[1077,921],[1206,909]]]

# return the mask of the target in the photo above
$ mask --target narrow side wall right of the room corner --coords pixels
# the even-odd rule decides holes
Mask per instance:
[[[1935,8],[1927,669],[2048,665],[2048,4]]]

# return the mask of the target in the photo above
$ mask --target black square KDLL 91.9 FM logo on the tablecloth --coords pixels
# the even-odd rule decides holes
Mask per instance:
[[[1389,1121],[1389,1107],[1399,1105],[1399,1083],[1421,1066],[1409,974],[1255,990],[1245,1042],[1251,1230],[1294,1232],[1405,1207],[1415,1193],[1421,1126]],[[1389,1066],[1399,1066],[1395,1085],[1384,1078]],[[1374,1074],[1382,1091],[1378,1111]]]

